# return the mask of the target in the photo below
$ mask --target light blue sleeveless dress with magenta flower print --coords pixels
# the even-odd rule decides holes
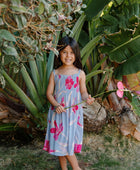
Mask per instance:
[[[52,105],[49,108],[43,150],[52,155],[65,156],[81,152],[83,108],[82,104],[78,104],[81,102],[79,90],[80,71],[73,75],[57,75],[53,70],[55,81],[54,98],[66,108],[66,112],[58,114]]]

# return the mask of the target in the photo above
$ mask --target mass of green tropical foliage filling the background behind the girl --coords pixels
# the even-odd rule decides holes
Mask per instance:
[[[88,91],[104,93],[114,78],[140,71],[139,11],[138,0],[0,1],[0,92],[10,107],[26,106],[23,119],[46,127],[45,93],[59,38],[69,35],[78,41]],[[139,103],[135,100],[133,106]],[[2,129],[9,124],[2,123]]]

